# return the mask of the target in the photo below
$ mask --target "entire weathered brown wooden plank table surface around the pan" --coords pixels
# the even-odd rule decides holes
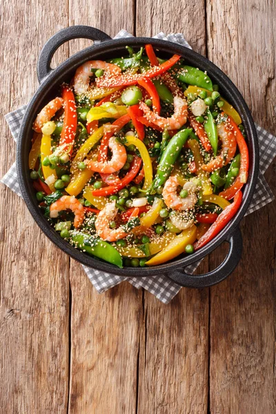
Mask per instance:
[[[275,129],[273,0],[17,1],[1,3],[1,114],[38,86],[39,51],[57,30],[114,36],[182,32]],[[70,41],[55,65],[90,41]],[[15,159],[1,117],[0,177]],[[275,189],[275,164],[266,179]],[[212,288],[183,288],[168,305],[123,283],[99,295],[26,205],[1,186],[0,413],[276,413],[275,204],[242,221],[244,253]],[[215,268],[226,246],[206,258]]]

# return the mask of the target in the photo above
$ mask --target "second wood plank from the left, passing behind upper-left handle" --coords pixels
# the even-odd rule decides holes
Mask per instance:
[[[71,1],[70,24],[88,24],[114,36],[133,32],[131,1]],[[70,53],[89,41],[70,43]],[[77,262],[70,263],[72,290],[70,413],[135,413],[141,291],[124,283],[99,295]]]

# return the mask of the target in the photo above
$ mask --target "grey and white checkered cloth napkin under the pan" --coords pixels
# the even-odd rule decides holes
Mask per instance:
[[[122,37],[132,37],[132,34],[126,32],[126,30],[121,30],[117,36],[115,36],[115,39],[120,39]],[[186,48],[191,48],[181,33],[168,34],[168,36],[166,36],[164,33],[159,33],[154,37],[156,39],[164,39],[172,41],[174,43],[179,43],[183,46],[186,46]],[[12,132],[14,141],[17,140],[17,136],[19,135],[21,120],[23,118],[26,107],[26,105],[21,106],[21,108],[14,110],[13,112],[10,112],[6,115],[6,121],[10,127],[10,132]],[[274,199],[273,193],[271,192],[266,180],[264,179],[264,172],[276,155],[276,137],[258,125],[256,125],[256,128],[257,135],[259,137],[260,152],[259,179],[257,182],[255,194],[246,214],[253,213],[253,211],[262,208]],[[15,163],[12,165],[10,170],[8,170],[6,175],[1,179],[1,182],[10,187],[10,189],[17,193],[17,195],[21,196]],[[197,266],[199,266],[199,263],[200,262],[196,262],[195,264],[187,266],[186,272],[193,274]],[[171,282],[170,279],[163,275],[155,277],[130,278],[111,275],[110,273],[103,273],[99,270],[95,270],[87,266],[83,266],[83,268],[99,293],[105,292],[109,288],[116,286],[124,280],[128,280],[128,282],[135,286],[135,288],[144,288],[155,295],[159,300],[161,300],[161,302],[167,304],[173,297],[175,297],[175,295],[177,295],[181,289],[179,285]]]

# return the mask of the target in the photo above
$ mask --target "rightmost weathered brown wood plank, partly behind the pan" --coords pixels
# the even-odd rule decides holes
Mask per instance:
[[[255,120],[275,133],[275,4],[207,4],[208,57],[236,83]],[[267,177],[275,189],[272,168]],[[246,217],[242,261],[211,289],[212,413],[276,412],[275,225],[275,204]],[[212,265],[224,254],[213,255]]]

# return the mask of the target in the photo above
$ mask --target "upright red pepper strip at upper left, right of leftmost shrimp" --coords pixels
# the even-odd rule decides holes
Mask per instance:
[[[62,89],[62,98],[64,101],[64,119],[59,146],[66,144],[65,150],[71,155],[77,131],[76,103],[72,90],[67,86]]]

